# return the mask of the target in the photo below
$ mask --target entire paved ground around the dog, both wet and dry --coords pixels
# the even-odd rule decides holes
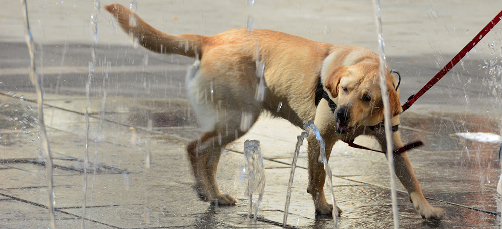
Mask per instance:
[[[237,206],[215,207],[200,201],[192,189],[185,153],[188,141],[200,134],[184,91],[185,71],[193,60],[133,48],[128,37],[113,27],[109,15],[101,12],[86,134],[85,83],[91,61],[89,17],[93,6],[83,1],[28,4],[38,44],[37,66],[44,77],[43,110],[54,161],[57,227],[281,226],[299,128],[261,117],[248,134],[227,147],[218,167],[220,189],[235,197]],[[492,1],[383,4],[387,58],[403,77],[402,102],[502,10],[502,3]],[[244,1],[142,1],[137,5],[140,16],[166,32],[210,35],[245,27],[251,16],[254,28],[376,50],[368,1],[255,1],[253,6]],[[0,19],[1,30],[7,32],[0,35],[0,227],[47,228],[45,163],[36,121],[37,96],[27,76],[29,56],[23,42],[21,6],[6,5]],[[423,220],[398,184],[401,228],[499,227],[500,144],[465,140],[454,133],[500,133],[501,28],[497,26],[401,116],[404,142],[425,143],[409,152],[424,195],[432,205],[446,210],[442,221]],[[85,174],[87,137],[90,164]],[[266,187],[256,222],[246,217],[248,201],[242,179],[246,139],[259,140],[265,157]],[[356,142],[377,148],[367,137]],[[304,146],[301,152],[288,227],[333,228],[332,219],[314,214],[306,193]],[[338,143],[330,166],[336,201],[343,210],[339,228],[393,227],[389,171],[382,154]]]

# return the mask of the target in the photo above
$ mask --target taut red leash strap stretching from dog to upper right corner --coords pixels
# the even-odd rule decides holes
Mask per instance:
[[[403,105],[402,107],[403,111],[401,112],[404,112],[405,110],[410,108],[410,106],[413,105],[413,103],[415,103],[415,101],[418,98],[420,98],[420,96],[422,96],[426,91],[428,91],[432,86],[434,86],[434,84],[436,84],[441,78],[443,78],[443,76],[446,75],[446,73],[448,73],[462,58],[464,58],[465,55],[472,48],[474,48],[474,46],[476,46],[476,44],[479,41],[481,41],[481,39],[488,32],[490,32],[490,30],[493,29],[493,27],[495,27],[495,25],[500,21],[501,18],[502,18],[502,11],[500,11],[500,13],[498,13],[497,16],[495,16],[495,18],[493,18],[493,20],[491,20],[491,22],[488,23],[488,25],[486,25],[484,29],[481,30],[481,32],[479,32],[474,37],[474,39],[472,39],[471,42],[469,42],[469,44],[467,44],[455,57],[453,57],[453,59],[451,59],[450,62],[448,62],[448,64],[446,64],[446,66],[444,66],[443,69],[441,69],[441,71],[439,71],[434,76],[434,78],[432,78],[427,84],[425,84],[425,86],[422,87],[422,89],[420,89],[420,91],[418,91],[417,94],[413,95],[412,98],[408,99],[408,101],[406,101],[405,104]]]

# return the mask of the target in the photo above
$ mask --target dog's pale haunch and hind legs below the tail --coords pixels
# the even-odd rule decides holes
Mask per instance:
[[[247,132],[256,121],[262,103],[255,99],[259,78],[255,61],[238,47],[220,46],[205,52],[187,72],[188,97],[197,119],[207,130],[187,151],[201,199],[218,205],[233,205],[216,182],[218,162],[225,146]]]

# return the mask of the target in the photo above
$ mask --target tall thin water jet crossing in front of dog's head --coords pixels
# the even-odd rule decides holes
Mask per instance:
[[[399,228],[399,214],[396,194],[396,178],[394,176],[394,155],[392,153],[392,127],[389,97],[387,96],[387,86],[385,85],[386,67],[384,53],[384,38],[382,37],[382,20],[380,13],[380,0],[373,0],[373,8],[376,17],[376,34],[378,34],[379,59],[380,59],[380,92],[382,93],[382,103],[384,105],[384,129],[385,141],[387,144],[387,159],[390,171],[391,197],[392,197],[392,216],[394,218],[394,228]]]

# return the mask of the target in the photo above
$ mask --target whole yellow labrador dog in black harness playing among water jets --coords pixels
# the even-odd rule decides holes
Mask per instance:
[[[379,57],[355,46],[335,46],[271,30],[229,30],[211,37],[170,35],[158,31],[128,8],[112,4],[106,10],[139,43],[157,53],[194,57],[186,76],[188,96],[206,132],[191,142],[188,155],[201,199],[234,205],[221,194],[216,170],[225,146],[248,131],[262,111],[287,119],[298,127],[309,120],[319,128],[329,157],[338,140],[374,135],[382,148],[379,131],[383,120],[379,87]],[[396,78],[386,74],[392,125],[399,124],[401,110]],[[262,93],[263,92],[263,93]],[[325,172],[318,162],[319,146],[308,138],[309,186],[318,214],[330,215],[333,206],[324,196]],[[393,132],[394,148],[403,146]],[[407,153],[396,155],[395,173],[410,194],[415,209],[425,218],[441,218],[444,210],[425,200]],[[336,209],[341,212],[340,209]]]

